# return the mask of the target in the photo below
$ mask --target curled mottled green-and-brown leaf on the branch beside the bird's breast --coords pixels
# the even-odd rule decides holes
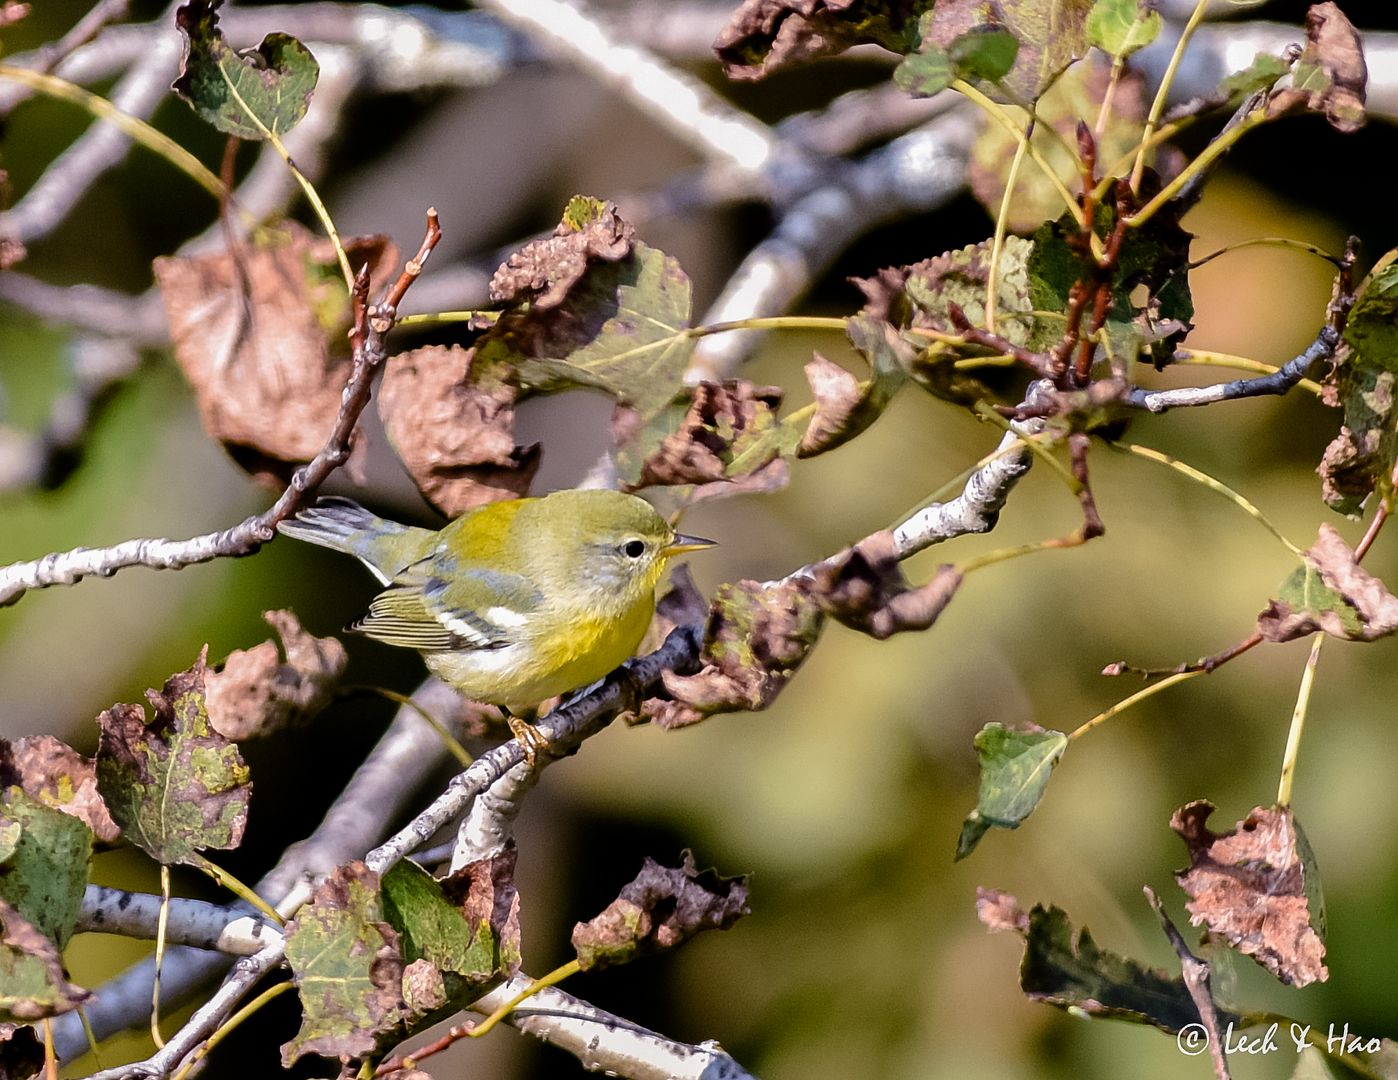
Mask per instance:
[[[714,713],[766,708],[821,636],[811,584],[738,581],[719,587],[709,609],[698,675],[664,672],[672,700],[649,699],[642,713],[663,728],[698,724]]]

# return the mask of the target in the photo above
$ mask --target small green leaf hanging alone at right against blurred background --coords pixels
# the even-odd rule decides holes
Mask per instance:
[[[980,798],[966,817],[956,858],[976,849],[991,829],[1019,829],[1033,813],[1048,785],[1068,736],[1061,731],[1015,731],[1004,724],[987,724],[976,734],[980,754]]]

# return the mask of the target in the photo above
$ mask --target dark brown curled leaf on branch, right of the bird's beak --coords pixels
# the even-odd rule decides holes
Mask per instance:
[[[944,563],[925,585],[910,585],[899,569],[893,534],[885,530],[821,563],[815,599],[846,626],[884,640],[903,630],[925,630],[960,583],[960,573]]]

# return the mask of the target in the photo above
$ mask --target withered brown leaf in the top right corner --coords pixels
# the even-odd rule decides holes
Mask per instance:
[[[1306,48],[1292,68],[1292,85],[1275,94],[1268,113],[1292,109],[1324,113],[1336,131],[1364,126],[1369,68],[1364,45],[1353,24],[1334,3],[1311,4],[1306,13]]]

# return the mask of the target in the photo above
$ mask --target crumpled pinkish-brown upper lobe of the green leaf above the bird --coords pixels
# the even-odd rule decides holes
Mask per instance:
[[[589,265],[629,256],[635,233],[615,203],[575,196],[552,236],[530,240],[495,271],[491,299],[558,307]]]

